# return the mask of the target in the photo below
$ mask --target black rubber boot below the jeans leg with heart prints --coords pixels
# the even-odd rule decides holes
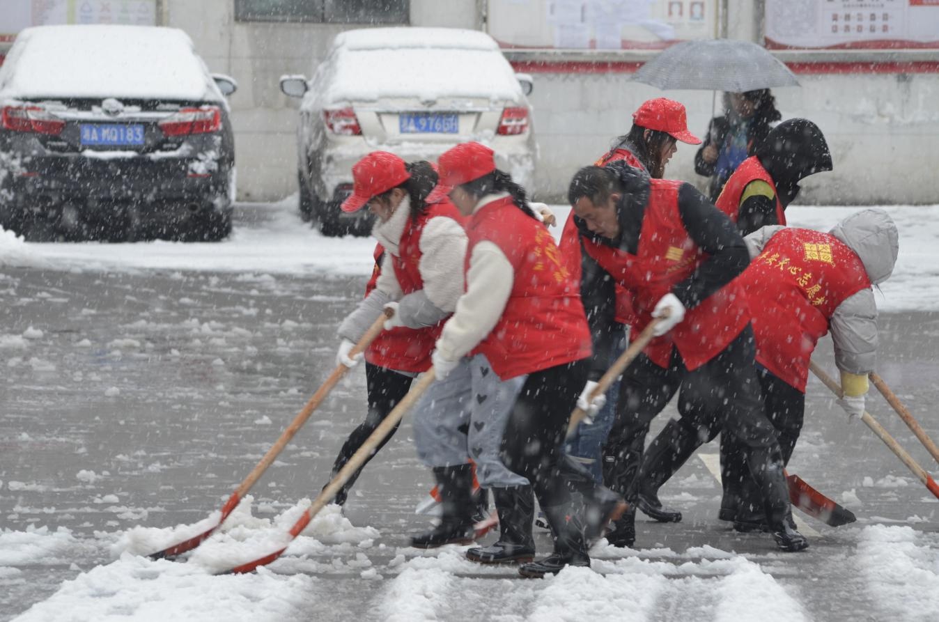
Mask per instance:
[[[531,486],[494,488],[492,496],[499,512],[499,540],[487,547],[467,551],[467,559],[480,564],[516,564],[534,559],[534,494]]]

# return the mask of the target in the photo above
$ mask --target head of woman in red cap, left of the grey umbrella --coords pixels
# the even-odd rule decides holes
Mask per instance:
[[[654,179],[665,177],[665,165],[678,150],[678,141],[700,145],[698,136],[688,132],[685,106],[678,101],[660,97],[643,102],[633,113],[633,127],[616,139],[611,148],[594,166],[624,160]]]

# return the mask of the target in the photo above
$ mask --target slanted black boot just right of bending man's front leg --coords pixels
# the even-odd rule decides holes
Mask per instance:
[[[658,489],[675,474],[701,445],[698,430],[672,419],[655,437],[636,475],[636,505],[654,521],[680,522],[682,513],[663,507]],[[633,495],[627,496],[632,499]]]

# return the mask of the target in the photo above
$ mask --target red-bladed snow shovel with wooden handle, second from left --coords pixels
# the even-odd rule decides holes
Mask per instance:
[[[367,439],[365,439],[365,443],[362,443],[362,446],[359,447],[359,449],[356,450],[354,454],[352,454],[352,457],[348,460],[348,462],[346,462],[346,465],[339,470],[339,473],[337,473],[335,477],[332,478],[331,482],[326,485],[326,488],[320,491],[319,495],[316,497],[316,499],[314,499],[313,505],[310,505],[310,507],[308,507],[307,510],[303,512],[302,516],[300,516],[300,519],[295,522],[292,527],[290,527],[289,539],[286,540],[283,549],[269,553],[268,555],[265,555],[259,559],[255,559],[254,561],[248,562],[247,564],[242,564],[240,566],[236,566],[235,568],[231,568],[225,574],[240,574],[243,572],[251,572],[254,570],[254,568],[258,568],[259,566],[267,566],[269,563],[280,557],[281,553],[286,551],[287,545],[293,541],[294,538],[300,536],[300,532],[303,531],[303,529],[305,529],[308,524],[310,524],[310,521],[312,521],[316,514],[319,513],[319,510],[323,509],[323,507],[325,507],[332,501],[333,498],[335,498],[336,492],[338,492],[339,489],[341,489],[343,485],[346,484],[349,477],[351,477],[352,474],[354,474],[359,469],[359,467],[365,463],[365,460],[368,459],[372,455],[372,452],[376,450],[378,444],[385,440],[385,437],[391,433],[394,427],[398,425],[398,422],[401,421],[401,418],[404,417],[405,413],[408,412],[414,406],[414,404],[417,403],[417,400],[423,396],[424,392],[427,390],[427,387],[429,387],[435,380],[434,369],[431,368],[429,371],[423,374],[423,377],[420,381],[417,381],[417,384],[411,386],[410,391],[408,391],[408,395],[405,396],[400,402],[398,402],[397,406],[392,409],[392,412],[388,413],[388,416],[385,417],[384,421],[378,424],[378,427],[375,428],[375,431],[372,432],[372,434]]]

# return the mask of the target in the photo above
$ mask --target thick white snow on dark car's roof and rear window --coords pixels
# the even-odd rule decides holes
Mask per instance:
[[[0,68],[12,98],[222,98],[192,39],[177,28],[56,25],[26,28]]]

